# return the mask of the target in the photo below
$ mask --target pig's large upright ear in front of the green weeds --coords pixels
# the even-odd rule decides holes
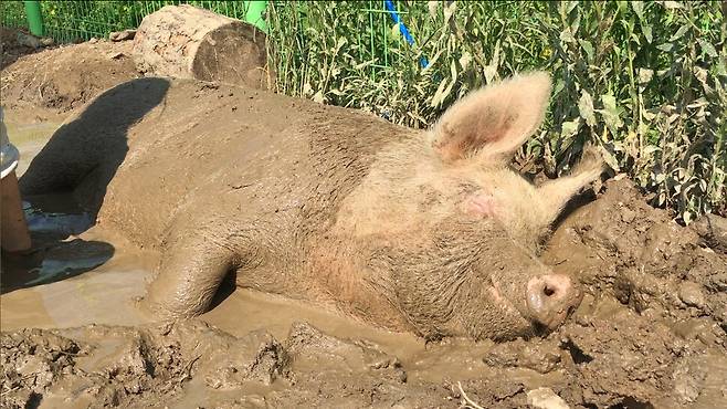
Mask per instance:
[[[544,72],[515,76],[470,93],[434,126],[432,147],[444,161],[477,156],[509,160],[540,126],[550,95]]]

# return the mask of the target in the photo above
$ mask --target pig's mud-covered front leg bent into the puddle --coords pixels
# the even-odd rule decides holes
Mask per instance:
[[[209,234],[190,232],[165,251],[145,307],[162,319],[204,313],[234,260],[229,247]]]

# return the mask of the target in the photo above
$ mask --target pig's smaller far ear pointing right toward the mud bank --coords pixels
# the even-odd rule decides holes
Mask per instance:
[[[549,227],[566,207],[566,203],[603,172],[603,159],[594,148],[583,151],[581,161],[568,176],[550,180],[537,188],[540,219],[544,228]]]

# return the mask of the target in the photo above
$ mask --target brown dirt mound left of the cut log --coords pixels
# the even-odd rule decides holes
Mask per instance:
[[[20,56],[0,72],[2,104],[64,113],[139,74],[131,42],[95,41]]]

